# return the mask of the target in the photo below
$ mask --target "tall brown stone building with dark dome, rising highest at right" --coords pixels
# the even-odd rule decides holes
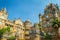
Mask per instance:
[[[56,28],[53,27],[53,22],[55,19],[60,21],[60,10],[57,4],[49,4],[44,10],[44,15],[39,14],[39,19],[41,23],[41,29],[44,33],[48,32],[49,35],[53,36],[52,40],[59,40],[58,37],[60,34],[58,30],[60,27],[56,24]],[[54,39],[55,38],[55,39]]]

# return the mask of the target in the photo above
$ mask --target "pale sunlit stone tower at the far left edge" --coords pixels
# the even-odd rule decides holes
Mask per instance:
[[[7,21],[7,11],[6,8],[0,10],[0,28],[5,27],[5,22]]]

